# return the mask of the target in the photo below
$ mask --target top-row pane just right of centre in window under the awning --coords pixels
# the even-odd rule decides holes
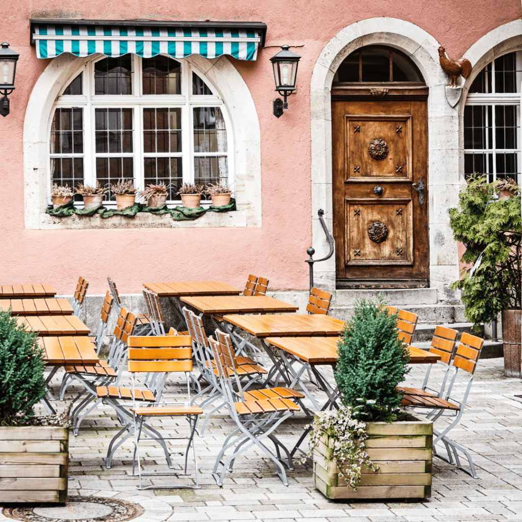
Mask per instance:
[[[167,56],[143,58],[144,94],[181,94],[181,65]]]

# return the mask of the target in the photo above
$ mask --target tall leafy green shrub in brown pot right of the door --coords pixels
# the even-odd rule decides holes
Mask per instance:
[[[520,377],[522,316],[520,189],[495,200],[500,183],[473,176],[459,193],[459,205],[449,211],[455,240],[466,246],[461,262],[468,267],[451,288],[462,290],[464,316],[474,326],[488,324],[502,312],[504,371]]]

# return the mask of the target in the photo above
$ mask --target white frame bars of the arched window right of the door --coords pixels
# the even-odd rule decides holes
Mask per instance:
[[[516,62],[515,67],[517,70],[516,78],[515,78],[515,86],[516,89],[518,89],[518,92],[494,92],[495,90],[495,60],[497,58],[500,58],[504,54],[510,54],[515,53]],[[497,105],[516,105],[516,128],[518,129],[517,133],[517,140],[520,144],[521,136],[520,136],[520,129],[521,129],[521,119],[520,119],[520,83],[522,81],[522,50],[512,50],[508,51],[507,53],[503,53],[499,56],[495,56],[491,62],[484,65],[482,67],[481,71],[485,68],[491,65],[491,82],[492,82],[492,91],[491,93],[481,93],[481,92],[470,92],[468,93],[468,96],[466,97],[466,103],[465,105],[475,105],[475,106],[491,106],[491,128],[492,128],[492,147],[489,149],[467,149],[464,148],[464,154],[474,154],[474,153],[483,153],[484,155],[492,155],[493,157],[493,171],[492,172],[485,172],[484,174],[492,175],[493,181],[496,180],[496,155],[497,153],[512,153],[515,152],[517,155],[517,173],[518,173],[518,184],[521,184],[522,179],[522,153],[520,152],[520,147],[517,149],[500,149],[496,147],[496,136],[495,136],[495,106]],[[479,73],[480,74],[480,73]],[[477,77],[476,77],[477,78]],[[487,117],[487,114],[486,114]],[[486,129],[488,129],[489,126],[487,124]],[[486,133],[486,139],[488,139],[488,134]],[[488,167],[488,161],[485,162],[486,170],[489,169]],[[469,173],[467,173],[469,174]],[[482,173],[481,173],[482,174]]]

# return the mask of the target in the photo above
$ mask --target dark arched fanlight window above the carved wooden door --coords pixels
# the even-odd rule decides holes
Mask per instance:
[[[424,85],[419,69],[410,58],[383,45],[368,45],[349,54],[339,65],[334,82],[414,82]]]

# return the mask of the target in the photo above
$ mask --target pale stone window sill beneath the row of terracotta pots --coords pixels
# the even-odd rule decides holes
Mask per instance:
[[[174,221],[170,214],[155,215],[149,212],[138,212],[134,217],[112,216],[102,219],[99,215],[53,217],[40,213],[40,229],[129,229],[129,228],[208,228],[208,227],[246,227],[247,210],[233,212],[206,212],[192,221]]]

